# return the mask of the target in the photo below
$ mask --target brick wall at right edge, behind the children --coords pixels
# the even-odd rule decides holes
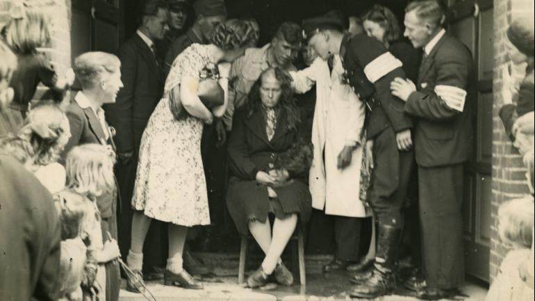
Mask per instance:
[[[525,184],[525,167],[518,151],[504,132],[498,112],[503,104],[502,67],[509,63],[504,51],[505,31],[512,18],[534,15],[533,0],[494,0],[494,75],[493,75],[493,183],[491,225],[491,279],[497,274],[502,259],[509,251],[497,234],[497,208],[504,201],[529,193]],[[522,68],[513,70],[520,76]]]

